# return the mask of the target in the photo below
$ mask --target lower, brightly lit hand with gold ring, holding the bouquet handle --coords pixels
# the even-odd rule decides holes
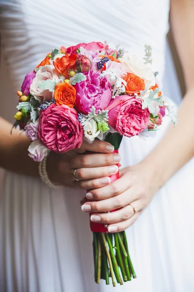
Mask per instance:
[[[159,188],[154,174],[137,164],[122,169],[120,179],[87,194],[93,201],[85,202],[81,209],[92,213],[92,221],[108,224],[109,232],[120,232],[135,222]]]

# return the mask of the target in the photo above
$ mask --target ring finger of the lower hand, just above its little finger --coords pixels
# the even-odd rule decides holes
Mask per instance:
[[[90,220],[97,223],[113,224],[125,221],[134,215],[133,207],[127,205],[111,213],[96,213],[90,216]]]

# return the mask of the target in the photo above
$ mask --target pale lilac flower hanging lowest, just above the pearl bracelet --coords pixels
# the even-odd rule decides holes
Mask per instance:
[[[49,154],[49,149],[41,144],[40,140],[35,140],[28,148],[28,154],[34,161],[40,162]]]

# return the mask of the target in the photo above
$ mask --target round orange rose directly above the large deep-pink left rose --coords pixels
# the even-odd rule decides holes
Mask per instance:
[[[76,90],[69,83],[59,83],[55,87],[54,99],[57,106],[66,105],[73,108],[76,100]]]

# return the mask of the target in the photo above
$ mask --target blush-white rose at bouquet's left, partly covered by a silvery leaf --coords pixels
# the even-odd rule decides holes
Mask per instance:
[[[36,76],[32,81],[30,87],[30,93],[33,96],[38,96],[45,101],[50,101],[51,98],[54,96],[54,92],[49,91],[48,89],[45,90],[43,88],[38,88],[39,84],[43,80],[52,80],[56,83],[60,81],[58,73],[53,65],[45,65],[40,67],[39,70],[36,72]]]

